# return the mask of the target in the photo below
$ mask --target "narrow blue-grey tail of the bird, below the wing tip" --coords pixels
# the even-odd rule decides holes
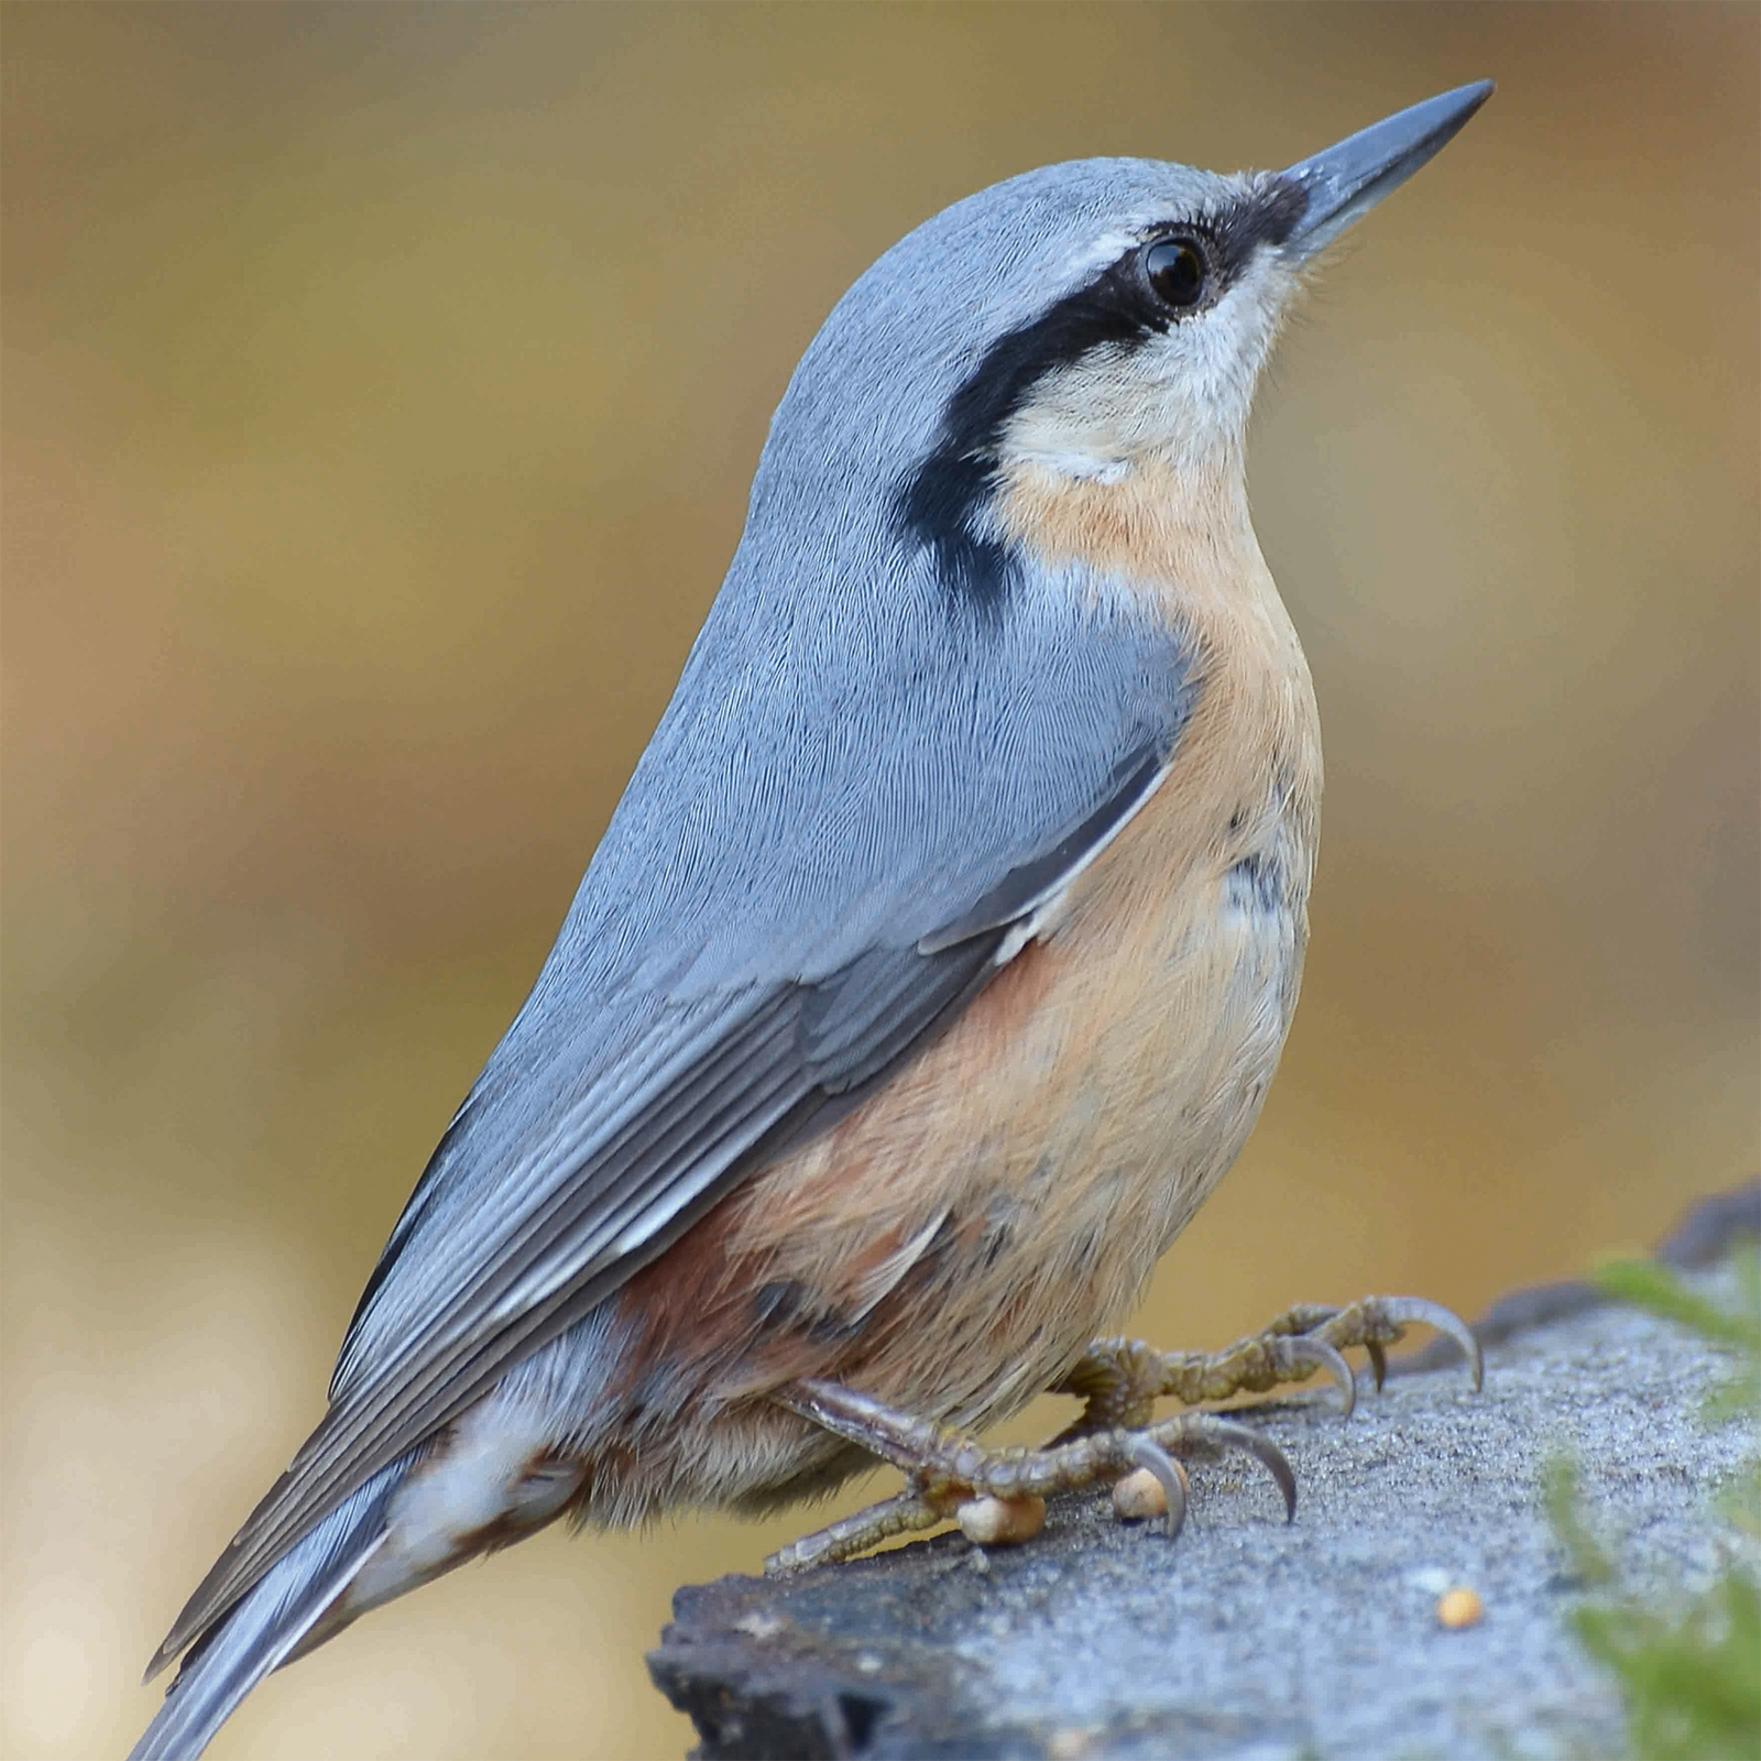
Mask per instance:
[[[129,1761],[195,1761],[271,1669],[349,1624],[352,1615],[321,1625],[384,1544],[386,1507],[407,1472],[409,1458],[375,1474],[195,1641]]]

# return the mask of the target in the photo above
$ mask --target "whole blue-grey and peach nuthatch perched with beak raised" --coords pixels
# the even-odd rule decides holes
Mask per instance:
[[[886,250],[764,442],[724,585],[291,1467],[178,1615],[130,1761],[558,1516],[759,1513],[873,1460],[835,1562],[1182,1462],[1210,1400],[1421,1298],[1212,1356],[1106,1333],[1242,1150],[1291,1027],[1315,694],[1249,518],[1256,382],[1345,227],[1490,81],[1280,173],[1088,158]],[[1474,1358],[1477,1381],[1477,1358]],[[1041,1449],[984,1426],[1085,1402]]]

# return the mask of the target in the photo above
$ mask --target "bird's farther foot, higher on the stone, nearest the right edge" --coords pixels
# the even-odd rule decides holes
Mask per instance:
[[[1301,1303],[1270,1326],[1217,1352],[1157,1351],[1138,1338],[1097,1338],[1064,1375],[1053,1393],[1085,1402],[1081,1416],[1053,1439],[1053,1448],[1120,1426],[1148,1423],[1155,1402],[1171,1396],[1182,1405],[1263,1395],[1303,1382],[1326,1370],[1338,1382],[1351,1416],[1358,1382],[1342,1352],[1361,1345],[1375,1386],[1388,1372],[1386,1347],[1414,1324],[1435,1328],[1462,1347],[1474,1391],[1485,1377],[1479,1340],[1451,1310],[1423,1296],[1365,1296],[1345,1308]]]

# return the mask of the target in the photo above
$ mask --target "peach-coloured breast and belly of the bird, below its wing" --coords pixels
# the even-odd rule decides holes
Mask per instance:
[[[1044,937],[625,1287],[636,1358],[703,1391],[653,1463],[673,1495],[761,1506],[859,1465],[763,1398],[801,1375],[960,1426],[1018,1411],[1240,1153],[1296,1006],[1321,789],[1294,632],[1275,595],[1250,611]]]

